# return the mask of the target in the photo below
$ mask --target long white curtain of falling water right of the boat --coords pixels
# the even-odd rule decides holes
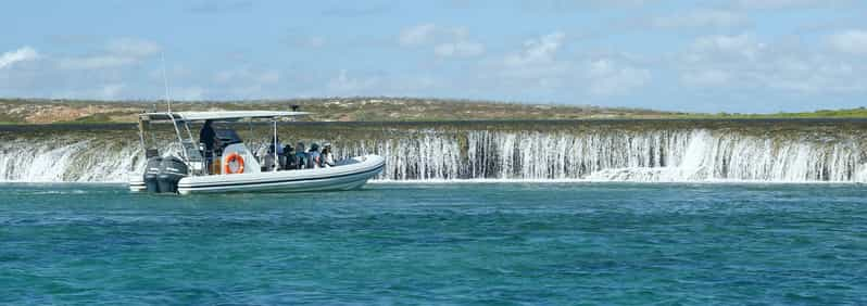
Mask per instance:
[[[347,153],[387,157],[382,178],[595,181],[863,182],[854,136],[814,141],[730,130],[425,132]],[[344,154],[344,155],[352,155]]]

